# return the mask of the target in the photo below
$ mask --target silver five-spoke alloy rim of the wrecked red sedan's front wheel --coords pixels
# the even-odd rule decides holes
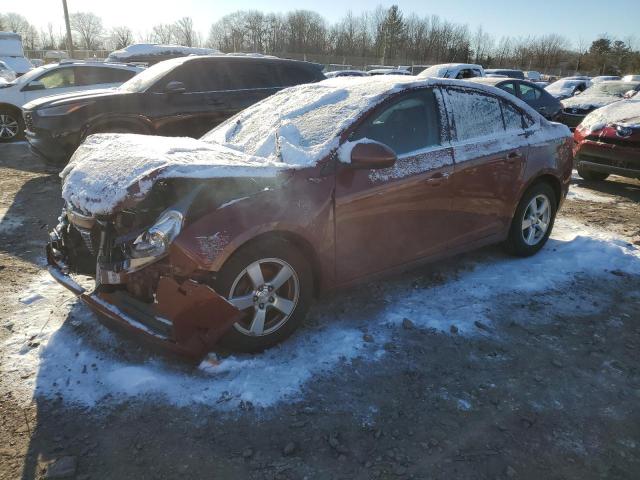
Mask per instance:
[[[228,300],[244,317],[234,328],[247,336],[269,335],[293,314],[300,297],[298,275],[284,260],[265,258],[242,270]]]

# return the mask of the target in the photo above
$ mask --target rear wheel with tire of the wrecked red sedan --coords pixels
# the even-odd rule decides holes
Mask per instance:
[[[556,194],[547,183],[525,192],[511,221],[507,250],[519,257],[536,254],[551,235],[557,211]]]

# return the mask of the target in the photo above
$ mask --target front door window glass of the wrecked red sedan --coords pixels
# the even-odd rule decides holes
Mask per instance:
[[[375,112],[351,140],[368,138],[384,143],[397,155],[440,144],[440,116],[433,90],[403,95]]]

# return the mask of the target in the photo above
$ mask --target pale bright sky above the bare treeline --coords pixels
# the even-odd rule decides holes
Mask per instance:
[[[149,31],[157,23],[192,17],[206,38],[213,22],[241,9],[263,12],[314,10],[333,22],[347,9],[354,13],[372,10],[380,4],[396,3],[406,14],[437,14],[447,20],[466,23],[472,29],[482,25],[494,37],[559,33],[573,42],[591,41],[600,34],[622,38],[636,36],[640,43],[640,0],[405,0],[375,2],[364,0],[67,0],[71,13],[91,11],[102,17],[106,27],[127,25],[134,33]],[[15,11],[37,27],[51,22],[63,25],[62,0],[3,0],[3,11]],[[638,48],[638,45],[636,45]]]

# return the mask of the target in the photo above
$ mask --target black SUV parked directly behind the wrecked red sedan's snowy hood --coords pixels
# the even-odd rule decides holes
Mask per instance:
[[[93,133],[198,138],[278,90],[323,80],[322,65],[275,57],[181,57],[148,68],[117,89],[42,98],[23,107],[35,153],[67,162]]]

